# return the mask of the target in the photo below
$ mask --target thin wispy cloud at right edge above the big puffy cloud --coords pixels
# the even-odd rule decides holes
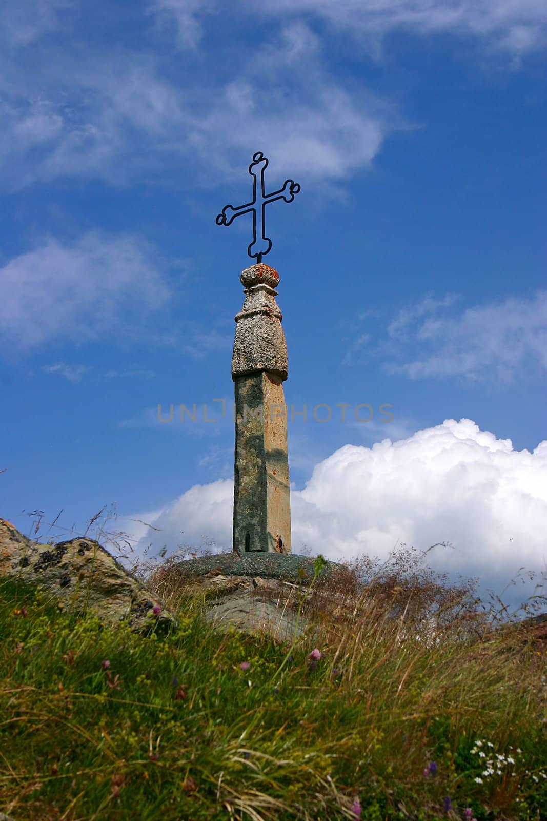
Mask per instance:
[[[413,345],[414,358],[386,364],[388,373],[510,384],[525,365],[547,369],[547,291],[467,308],[458,315],[439,315],[454,301],[454,295],[438,301],[428,298],[399,312],[388,333],[404,343],[406,355]],[[424,319],[426,314],[432,315]]]

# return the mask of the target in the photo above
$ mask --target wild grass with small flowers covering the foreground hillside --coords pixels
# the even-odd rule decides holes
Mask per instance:
[[[170,560],[133,567],[180,614],[164,636],[153,620],[134,635],[4,581],[0,812],[547,819],[539,643],[522,625],[496,625],[472,583],[448,588],[417,571],[409,551],[376,570],[367,558],[346,564],[330,580],[321,564],[289,601],[316,638],[310,628],[285,643],[217,631]],[[423,629],[431,613],[435,635]]]

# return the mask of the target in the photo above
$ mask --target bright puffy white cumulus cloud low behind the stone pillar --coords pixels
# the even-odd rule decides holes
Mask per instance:
[[[196,485],[160,512],[157,530],[135,549],[149,557],[180,544],[231,549],[233,481]],[[321,461],[306,487],[291,493],[293,552],[307,545],[333,561],[366,554],[385,562],[397,545],[435,548],[427,565],[449,580],[478,577],[477,594],[502,594],[518,608],[534,593],[547,562],[547,442],[515,451],[510,439],[472,420],[445,420],[433,428],[372,447],[345,445]],[[139,517],[142,518],[142,517]],[[180,537],[184,531],[184,539]],[[535,571],[517,586],[520,568]],[[545,593],[543,590],[540,592]]]

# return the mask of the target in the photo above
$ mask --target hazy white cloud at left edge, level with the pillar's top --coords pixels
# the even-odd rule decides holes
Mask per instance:
[[[49,239],[0,268],[0,339],[13,352],[134,337],[169,293],[151,247],[134,236],[89,232],[71,245]]]

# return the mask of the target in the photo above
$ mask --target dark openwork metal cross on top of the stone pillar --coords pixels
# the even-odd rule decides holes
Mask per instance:
[[[298,182],[293,180],[285,180],[283,188],[274,191],[273,194],[264,193],[264,172],[266,171],[268,161],[258,151],[253,154],[253,162],[248,167],[249,174],[253,177],[253,200],[246,205],[239,205],[239,208],[234,208],[233,205],[225,205],[222,213],[217,216],[217,225],[230,225],[231,222],[239,217],[242,213],[253,213],[253,241],[248,246],[247,253],[252,257],[257,258],[257,262],[262,262],[262,255],[266,255],[271,249],[271,240],[268,239],[264,233],[264,210],[268,203],[273,203],[276,200],[285,200],[286,203],[292,203],[294,195],[299,193],[300,186]],[[260,172],[260,190],[261,200],[257,203],[257,180]],[[257,215],[260,229],[260,236],[257,235]]]

